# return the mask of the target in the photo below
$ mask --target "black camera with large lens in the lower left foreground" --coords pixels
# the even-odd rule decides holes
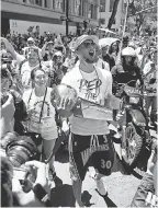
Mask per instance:
[[[25,162],[38,160],[37,147],[31,136],[19,136],[8,132],[2,138],[1,148],[13,165],[13,177],[18,178],[25,193],[30,192],[36,180],[36,170],[25,165]]]

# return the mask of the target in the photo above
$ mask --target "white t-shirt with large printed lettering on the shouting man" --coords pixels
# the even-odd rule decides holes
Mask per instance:
[[[82,95],[87,96],[89,92],[88,100],[101,106],[104,105],[108,94],[112,94],[112,74],[108,70],[100,68],[95,68],[91,73],[86,73],[79,69],[79,66],[76,66],[66,73],[61,83],[72,86],[80,97]],[[100,83],[99,88],[95,88],[98,83]],[[87,89],[88,85],[89,88]],[[88,111],[90,109],[88,112],[88,116],[90,116],[91,107],[88,106],[87,108]],[[93,115],[92,118],[72,115],[70,117],[71,132],[83,136],[109,134],[106,120],[93,117]]]

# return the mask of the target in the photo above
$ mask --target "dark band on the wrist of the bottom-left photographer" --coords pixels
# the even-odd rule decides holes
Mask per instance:
[[[44,204],[47,204],[49,201],[48,194],[41,184],[34,184],[32,190],[40,201]]]

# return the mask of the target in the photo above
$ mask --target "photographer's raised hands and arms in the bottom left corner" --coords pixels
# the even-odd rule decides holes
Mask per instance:
[[[30,190],[24,192],[23,185],[20,183],[22,171],[19,175],[7,157],[1,157],[1,207],[47,207],[50,206],[48,184],[48,165],[38,161],[30,161],[25,163],[27,169],[36,172],[36,178],[33,183],[27,178],[23,178]],[[20,178],[20,180],[19,180]]]

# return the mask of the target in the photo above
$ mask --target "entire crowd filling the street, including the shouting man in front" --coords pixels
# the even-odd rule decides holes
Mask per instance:
[[[33,135],[35,145],[38,148],[42,145],[41,162],[25,163],[36,170],[27,193],[15,178],[13,164],[7,155],[2,157],[2,207],[13,207],[16,203],[22,207],[50,206],[49,183],[56,178],[55,155],[50,155],[59,140],[58,127],[69,136],[69,171],[77,206],[84,206],[81,188],[89,162],[95,170],[92,178],[98,192],[102,196],[108,194],[102,177],[112,173],[115,151],[109,125],[117,126],[114,114],[124,106],[115,95],[119,74],[126,73],[121,82],[135,80],[143,88],[146,118],[157,128],[157,39],[148,37],[147,43],[146,38],[125,36],[110,45],[86,34],[1,37],[1,143],[9,132],[16,132],[19,137]],[[77,92],[79,106],[69,96],[53,104],[53,90],[59,84]],[[105,111],[99,114],[103,107]],[[84,115],[79,109],[84,109]],[[157,207],[156,170],[157,141],[131,207]]]

